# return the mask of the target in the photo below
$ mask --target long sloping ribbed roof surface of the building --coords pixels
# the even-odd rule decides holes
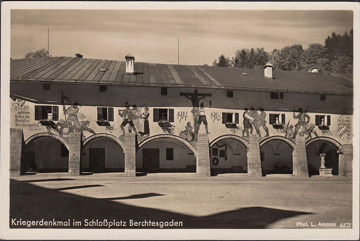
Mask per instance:
[[[100,71],[100,69],[102,71]],[[105,69],[105,71],[103,71]],[[50,57],[10,61],[10,81],[89,83],[101,85],[194,87],[212,89],[352,94],[352,80],[329,73],[134,63],[125,74],[125,61]],[[244,75],[242,73],[246,73]]]

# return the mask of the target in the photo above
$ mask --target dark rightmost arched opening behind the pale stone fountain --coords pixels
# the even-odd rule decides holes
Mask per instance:
[[[325,168],[332,168],[331,174],[338,175],[338,150],[342,146],[331,138],[314,138],[306,143],[306,158],[309,176],[319,175],[320,154],[325,154]]]

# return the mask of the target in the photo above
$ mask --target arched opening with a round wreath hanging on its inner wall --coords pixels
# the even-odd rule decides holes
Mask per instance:
[[[247,173],[247,141],[227,136],[210,144],[211,175]]]

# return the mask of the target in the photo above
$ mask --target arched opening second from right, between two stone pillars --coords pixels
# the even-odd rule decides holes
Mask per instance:
[[[292,174],[292,150],[292,144],[283,139],[269,139],[260,143],[262,176]]]

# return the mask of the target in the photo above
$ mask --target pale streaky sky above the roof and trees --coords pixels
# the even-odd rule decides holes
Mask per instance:
[[[47,49],[52,56],[211,65],[242,48],[324,44],[352,28],[351,11],[12,10],[11,58]]]

